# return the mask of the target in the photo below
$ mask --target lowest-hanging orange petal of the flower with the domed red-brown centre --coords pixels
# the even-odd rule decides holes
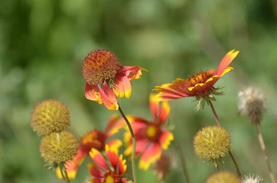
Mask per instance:
[[[109,110],[118,110],[117,99],[116,99],[116,96],[115,96],[112,88],[106,83],[106,81],[103,83],[102,87],[103,87],[103,90],[98,85],[98,90],[99,90],[99,93],[100,93],[100,97],[101,97],[104,105]]]

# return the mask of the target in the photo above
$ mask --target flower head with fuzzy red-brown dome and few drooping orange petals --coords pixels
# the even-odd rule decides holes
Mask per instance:
[[[109,110],[118,109],[118,96],[130,98],[130,81],[139,79],[141,71],[147,71],[139,66],[120,66],[114,53],[101,49],[86,56],[82,69],[86,98],[104,104]]]

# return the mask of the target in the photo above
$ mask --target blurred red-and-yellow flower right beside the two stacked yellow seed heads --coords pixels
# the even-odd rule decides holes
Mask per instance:
[[[79,167],[81,166],[85,158],[89,155],[89,151],[91,150],[91,148],[102,151],[105,149],[106,143],[108,146],[113,145],[116,148],[122,145],[122,142],[119,139],[108,141],[108,138],[117,133],[119,128],[122,127],[122,125],[120,125],[119,123],[122,122],[118,120],[118,115],[114,114],[110,117],[105,131],[93,130],[88,132],[85,136],[81,138],[78,154],[73,157],[72,160],[64,164],[64,167],[70,179],[75,178]],[[62,178],[61,171],[59,169],[56,170],[56,174],[59,178]]]

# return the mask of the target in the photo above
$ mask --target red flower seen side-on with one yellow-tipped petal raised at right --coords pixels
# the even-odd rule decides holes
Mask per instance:
[[[166,83],[162,86],[156,86],[154,90],[159,92],[157,98],[160,101],[169,101],[183,97],[196,97],[199,100],[201,97],[206,97],[207,94],[217,94],[214,87],[215,82],[224,74],[233,70],[229,66],[232,60],[238,55],[239,51],[229,51],[221,60],[218,68],[214,71],[200,71],[197,74],[189,77],[189,79],[176,79],[172,83]],[[213,72],[214,71],[214,72]]]

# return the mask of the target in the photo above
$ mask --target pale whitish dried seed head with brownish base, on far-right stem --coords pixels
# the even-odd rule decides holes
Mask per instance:
[[[260,125],[263,120],[263,113],[266,112],[266,98],[254,87],[248,87],[241,90],[239,97],[239,114],[248,115],[251,124]]]

